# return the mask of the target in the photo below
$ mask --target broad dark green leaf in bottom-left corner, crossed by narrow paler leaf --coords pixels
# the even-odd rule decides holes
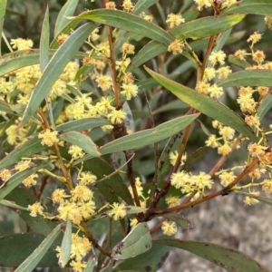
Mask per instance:
[[[34,250],[41,244],[43,240],[43,235],[33,233],[20,233],[13,236],[1,237],[1,267],[19,267],[24,262],[24,260],[34,252]],[[57,245],[53,243],[51,248],[49,248],[42,260],[39,261],[36,266],[58,267],[56,252],[54,250],[56,246]],[[24,272],[27,271],[33,270],[24,270]]]

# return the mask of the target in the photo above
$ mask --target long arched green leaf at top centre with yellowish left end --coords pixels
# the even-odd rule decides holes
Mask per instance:
[[[77,16],[80,19],[87,19],[100,24],[108,24],[132,33],[141,34],[151,40],[162,44],[170,44],[173,37],[160,28],[137,15],[132,15],[120,10],[96,9]]]

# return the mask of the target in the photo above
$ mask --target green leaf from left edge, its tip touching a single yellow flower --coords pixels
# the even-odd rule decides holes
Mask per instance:
[[[45,150],[47,147],[42,145],[38,137],[25,141],[22,145],[8,153],[3,160],[0,160],[0,169],[15,164],[24,157],[31,157],[34,153]]]

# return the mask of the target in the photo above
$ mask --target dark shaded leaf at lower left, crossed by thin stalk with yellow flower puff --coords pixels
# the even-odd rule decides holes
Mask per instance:
[[[13,189],[6,197],[6,200],[15,202],[22,207],[28,207],[38,201],[28,190],[22,188]],[[55,221],[44,219],[41,216],[35,218],[30,216],[29,210],[20,210],[18,212],[21,219],[24,220],[25,224],[34,232],[41,235],[47,236],[53,228],[57,225]]]

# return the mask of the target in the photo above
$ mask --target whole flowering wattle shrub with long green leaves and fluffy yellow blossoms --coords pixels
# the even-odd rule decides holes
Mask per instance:
[[[46,8],[38,49],[31,40],[7,41],[7,1],[0,3],[0,31],[11,51],[0,58],[0,204],[19,211],[25,232],[2,238],[0,262],[16,271],[156,271],[170,248],[181,248],[229,271],[268,271],[232,249],[152,234],[192,228],[180,210],[229,193],[271,205],[252,188],[272,192],[271,127],[261,125],[272,106],[272,66],[256,49],[257,33],[248,51],[228,56],[243,71],[222,66],[221,51],[238,38],[231,30],[245,14],[264,15],[271,27],[269,3],[184,1],[165,18],[157,0],[103,1],[103,8],[73,16],[78,2],[63,5],[51,42]],[[161,20],[152,17],[154,6]],[[201,16],[202,9],[214,15]],[[179,83],[187,69],[194,89]],[[219,102],[223,88],[237,86],[243,118]],[[177,99],[160,106],[168,91]],[[197,121],[200,114],[214,120],[219,136]],[[207,141],[187,155],[199,123]],[[241,142],[246,164],[221,170]],[[193,173],[208,148],[219,160],[208,173]]]

